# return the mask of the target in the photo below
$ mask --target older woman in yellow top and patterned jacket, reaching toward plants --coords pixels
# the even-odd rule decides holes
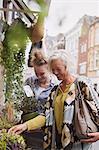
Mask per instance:
[[[76,77],[70,71],[69,58],[65,50],[55,51],[49,59],[52,72],[61,80],[59,86],[55,86],[48,97],[45,106],[45,115],[37,116],[24,124],[12,127],[9,131],[20,134],[24,130],[34,130],[45,127],[44,148],[66,150],[93,150],[91,142],[99,139],[99,133],[88,133],[88,139],[75,137],[74,102],[77,99]],[[87,79],[80,81],[83,93],[88,92]],[[87,92],[86,92],[87,90]],[[87,96],[87,95],[86,95]],[[90,95],[91,96],[91,95]],[[87,97],[88,98],[88,97]],[[94,105],[95,107],[95,105]]]

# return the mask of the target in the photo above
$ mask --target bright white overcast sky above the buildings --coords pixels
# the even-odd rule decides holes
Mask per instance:
[[[66,33],[85,14],[99,17],[99,0],[51,0],[46,32],[52,36]]]

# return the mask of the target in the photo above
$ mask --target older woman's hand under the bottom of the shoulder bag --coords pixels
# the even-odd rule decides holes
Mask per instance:
[[[99,140],[99,132],[95,132],[95,133],[88,133],[88,139],[83,139],[81,140],[81,142],[84,143],[93,143]]]

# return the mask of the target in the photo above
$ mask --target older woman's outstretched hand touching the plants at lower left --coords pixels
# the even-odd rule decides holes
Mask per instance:
[[[19,125],[16,125],[16,126],[13,126],[12,128],[10,128],[8,133],[21,134],[26,129],[27,129],[27,124],[23,123],[23,124],[19,124]]]

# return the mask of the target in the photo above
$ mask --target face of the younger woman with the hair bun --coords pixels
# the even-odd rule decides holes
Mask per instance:
[[[48,65],[34,66],[35,74],[41,83],[48,79]]]

